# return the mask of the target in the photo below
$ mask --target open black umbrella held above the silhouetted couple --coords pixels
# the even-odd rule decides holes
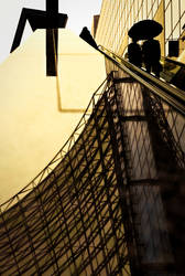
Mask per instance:
[[[128,34],[135,40],[148,40],[157,36],[163,26],[154,20],[142,20],[131,26]]]

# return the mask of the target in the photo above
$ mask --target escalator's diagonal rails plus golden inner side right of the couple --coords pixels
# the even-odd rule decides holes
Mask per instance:
[[[182,72],[185,70],[183,63],[162,57],[161,62],[164,70],[161,72],[161,77],[157,78],[154,75],[146,73],[144,68],[140,68],[129,63],[123,57],[101,45],[99,45],[99,51],[134,79],[154,91],[156,95],[162,97],[168,104],[172,104],[179,113],[185,114],[185,92],[181,88],[183,86],[184,77]],[[179,77],[182,75],[183,77]]]

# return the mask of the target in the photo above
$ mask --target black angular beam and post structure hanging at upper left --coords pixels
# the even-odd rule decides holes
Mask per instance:
[[[58,13],[58,0],[46,0],[46,11],[23,8],[10,52],[20,45],[26,20],[33,31],[46,29],[46,75],[56,76],[57,30],[66,26],[67,19],[67,14]]]

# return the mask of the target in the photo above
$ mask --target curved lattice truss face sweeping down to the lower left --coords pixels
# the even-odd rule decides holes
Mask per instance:
[[[1,205],[1,275],[131,275],[110,89],[97,91],[54,160]]]

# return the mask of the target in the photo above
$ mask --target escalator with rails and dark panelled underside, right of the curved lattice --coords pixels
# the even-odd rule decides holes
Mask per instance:
[[[115,74],[127,152],[129,210],[140,259],[133,275],[184,276],[185,92],[174,85],[175,79],[179,84],[183,65],[165,59],[165,74],[157,78],[99,50],[106,55],[107,73]],[[168,64],[176,68],[171,78]]]

